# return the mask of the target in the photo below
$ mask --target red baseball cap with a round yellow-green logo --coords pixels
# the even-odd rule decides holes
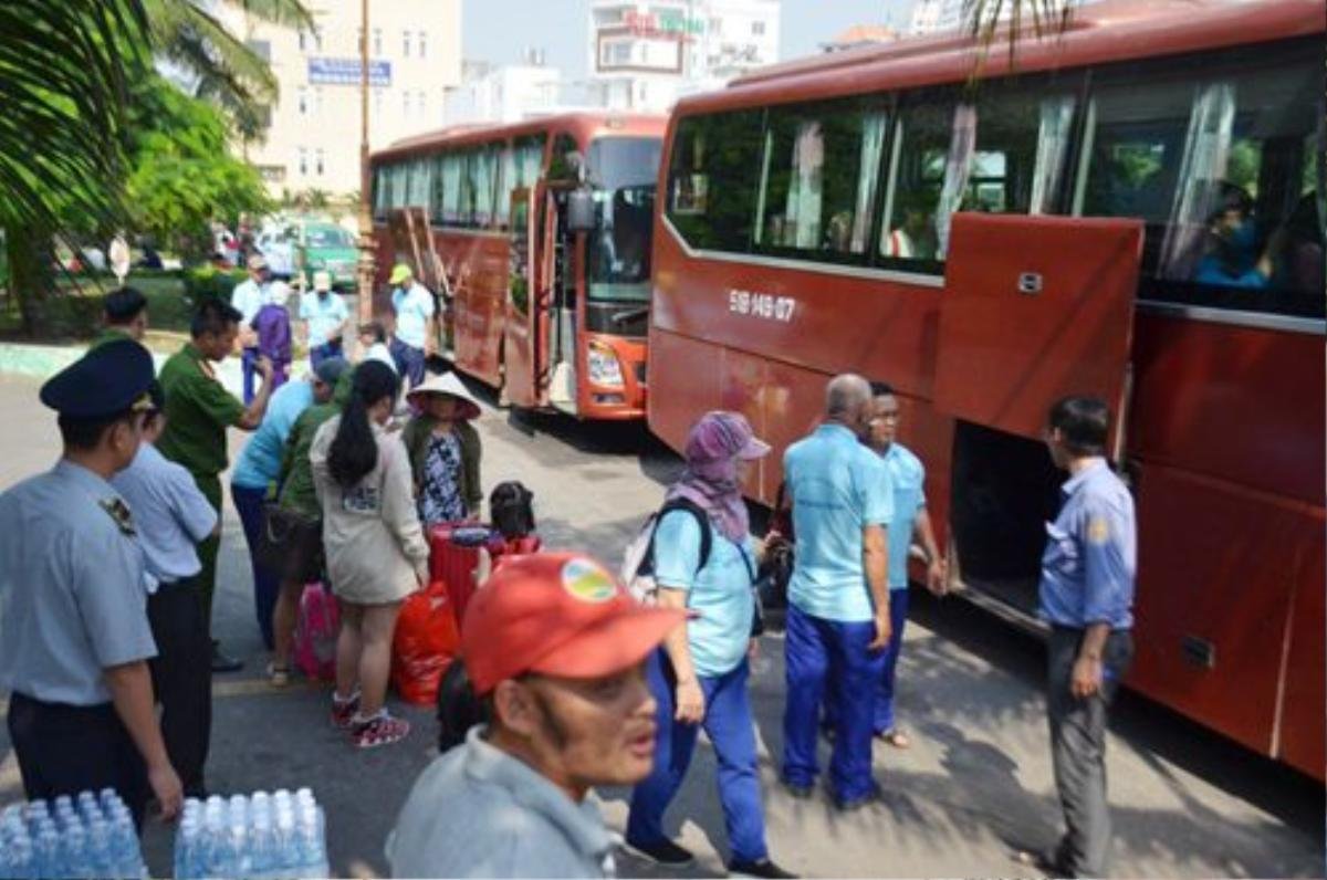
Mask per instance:
[[[634,666],[685,620],[641,605],[581,553],[516,556],[466,608],[462,654],[476,694],[524,673],[598,678]]]

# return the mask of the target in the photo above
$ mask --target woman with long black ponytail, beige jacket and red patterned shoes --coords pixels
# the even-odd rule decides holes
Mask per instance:
[[[401,603],[429,575],[410,461],[401,439],[384,430],[399,386],[385,364],[361,364],[344,413],[318,429],[309,451],[328,576],[341,600],[332,723],[360,749],[410,733],[384,702]]]

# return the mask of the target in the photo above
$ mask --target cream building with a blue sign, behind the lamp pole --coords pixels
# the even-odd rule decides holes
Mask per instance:
[[[215,9],[280,84],[265,139],[243,147],[275,196],[360,190],[360,0],[308,5],[314,33],[261,24],[234,3]],[[370,149],[447,123],[445,97],[460,84],[460,0],[373,0],[369,56]]]

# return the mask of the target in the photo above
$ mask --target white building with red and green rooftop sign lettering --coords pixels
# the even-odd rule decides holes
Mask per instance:
[[[593,0],[589,89],[614,110],[664,111],[779,60],[782,0]]]

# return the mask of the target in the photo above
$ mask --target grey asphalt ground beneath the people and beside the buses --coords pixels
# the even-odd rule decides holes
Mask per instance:
[[[0,488],[49,466],[54,419],[37,385],[0,378]],[[520,479],[535,492],[551,548],[588,550],[616,565],[625,542],[658,504],[677,459],[644,429],[522,419],[486,407],[484,482]],[[240,437],[232,438],[232,453]],[[328,810],[333,871],[382,875],[382,844],[414,778],[434,757],[426,709],[402,707],[415,730],[402,745],[357,753],[328,725],[329,688],[283,692],[259,678],[248,559],[227,500],[216,634],[247,660],[215,678],[210,786],[223,794],[311,786]],[[913,747],[877,745],[884,802],[848,816],[824,796],[798,802],[775,784],[782,749],[783,664],[778,634],[764,638],[752,678],[770,847],[774,857],[819,876],[1020,876],[1015,847],[1058,835],[1046,721],[1043,652],[957,599],[913,596],[900,666],[898,711]],[[823,755],[827,758],[827,753]],[[1112,721],[1108,774],[1116,876],[1323,876],[1323,788],[1141,698],[1125,696]],[[621,830],[625,791],[600,792]],[[20,799],[17,765],[0,731],[0,806]],[[455,804],[464,810],[464,804]],[[698,853],[687,876],[714,876],[727,855],[703,743],[670,811],[681,842]],[[150,828],[155,876],[170,872],[170,830]],[[624,857],[624,875],[654,873]]]

